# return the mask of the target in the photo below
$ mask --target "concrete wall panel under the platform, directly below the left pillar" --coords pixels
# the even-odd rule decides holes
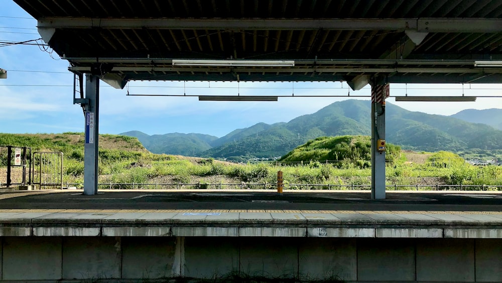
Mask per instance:
[[[109,237],[64,237],[63,279],[120,278],[120,246]]]

